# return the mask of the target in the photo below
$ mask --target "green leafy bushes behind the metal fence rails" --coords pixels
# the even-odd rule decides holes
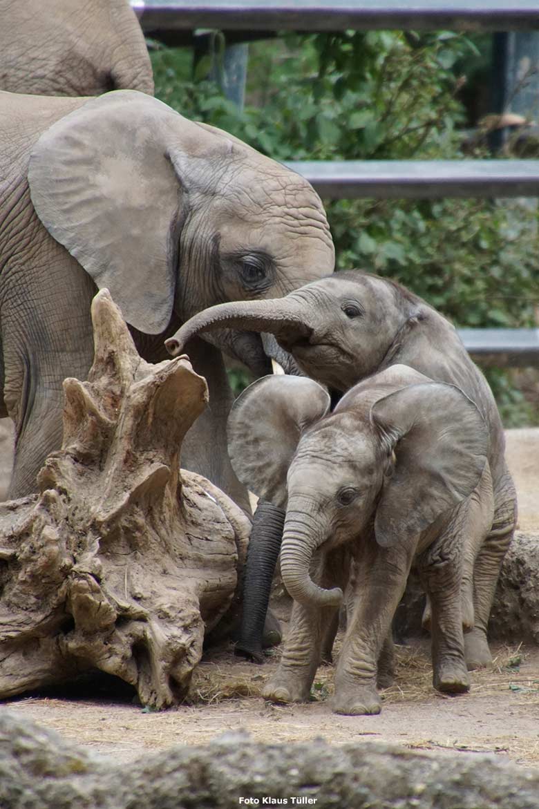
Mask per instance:
[[[477,48],[477,44],[479,48]],[[190,49],[152,50],[156,95],[275,159],[462,157],[466,74],[488,40],[452,32],[342,32],[249,46],[243,112],[210,81],[223,36],[193,71]],[[482,147],[484,148],[484,147]],[[476,148],[475,156],[485,152]],[[397,278],[460,326],[528,326],[539,307],[537,209],[518,201],[343,200],[326,205],[338,269]],[[514,376],[514,375],[513,375]],[[511,372],[490,383],[508,426],[539,423]],[[240,380],[236,380],[240,382]]]

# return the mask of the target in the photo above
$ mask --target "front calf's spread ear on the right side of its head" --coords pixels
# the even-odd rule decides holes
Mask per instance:
[[[419,383],[373,404],[371,420],[397,462],[376,510],[382,547],[422,532],[473,492],[489,449],[473,401],[445,383]]]

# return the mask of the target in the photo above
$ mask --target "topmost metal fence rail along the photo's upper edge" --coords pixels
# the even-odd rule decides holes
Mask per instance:
[[[142,28],[511,31],[539,28],[537,0],[136,0]]]

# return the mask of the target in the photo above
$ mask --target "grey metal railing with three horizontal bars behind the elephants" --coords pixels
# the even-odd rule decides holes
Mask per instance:
[[[185,44],[195,29],[230,41],[275,32],[346,29],[539,29],[539,0],[132,0],[143,31]],[[345,160],[286,163],[325,199],[355,197],[539,197],[539,160]],[[473,358],[539,367],[539,329],[465,328]]]

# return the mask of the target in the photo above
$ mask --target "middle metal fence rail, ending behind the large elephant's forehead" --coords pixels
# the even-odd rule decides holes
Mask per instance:
[[[295,160],[325,199],[537,197],[539,160]]]

